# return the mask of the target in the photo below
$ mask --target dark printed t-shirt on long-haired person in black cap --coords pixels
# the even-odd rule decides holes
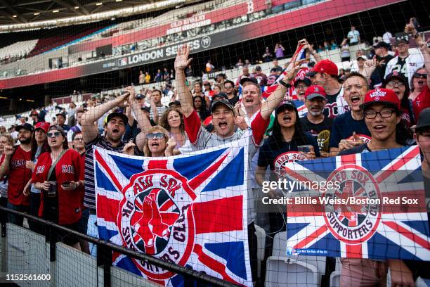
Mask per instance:
[[[311,144],[315,151],[315,156],[320,157],[320,149],[318,148],[317,141],[314,136],[305,132],[304,133],[304,144]],[[273,136],[269,136],[263,143],[259,152],[259,167],[267,167],[270,165],[271,170],[278,171],[287,162],[294,162],[297,160],[304,160],[304,156],[298,153],[297,142],[293,139],[290,142],[287,141],[275,141]]]

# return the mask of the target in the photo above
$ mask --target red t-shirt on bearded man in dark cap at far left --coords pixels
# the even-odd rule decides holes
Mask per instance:
[[[32,152],[16,148],[9,163],[8,200],[13,205],[30,205],[30,197],[24,196],[24,186],[32,178],[32,170],[25,167],[25,161],[31,160]]]

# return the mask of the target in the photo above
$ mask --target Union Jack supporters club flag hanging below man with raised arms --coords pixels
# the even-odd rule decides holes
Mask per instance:
[[[234,147],[236,146],[236,147]],[[100,238],[252,286],[247,243],[247,146],[172,158],[94,151]],[[113,253],[114,264],[164,286],[183,276]]]

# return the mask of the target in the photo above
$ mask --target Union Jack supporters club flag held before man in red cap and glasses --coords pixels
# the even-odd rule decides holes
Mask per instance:
[[[304,186],[295,195],[302,201],[287,207],[289,255],[430,260],[418,146],[285,166],[288,179]],[[321,181],[325,193],[314,184]],[[348,198],[355,204],[341,203]]]

